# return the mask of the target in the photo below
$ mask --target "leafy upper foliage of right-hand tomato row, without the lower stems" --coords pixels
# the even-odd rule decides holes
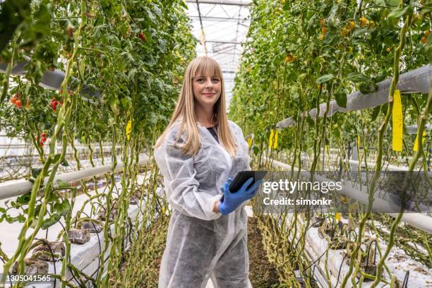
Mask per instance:
[[[373,91],[376,83],[392,76],[402,17],[407,13],[414,18],[400,57],[401,73],[428,64],[432,59],[432,37],[428,36],[432,2],[409,3],[253,1],[251,28],[230,106],[232,118],[244,126],[245,135],[254,134],[255,145],[267,145],[277,121],[292,117],[299,122],[317,104],[330,99],[345,107],[350,93]],[[404,124],[416,124],[416,105],[424,107],[426,96],[402,95]],[[361,118],[376,129],[377,117],[384,114],[385,107],[362,114],[337,113],[326,120],[327,136],[331,133],[334,140],[350,143],[362,136]],[[314,120],[307,117],[304,149],[313,145],[314,126]],[[295,129],[280,133],[280,148],[294,148]],[[410,141],[412,148],[414,139]]]

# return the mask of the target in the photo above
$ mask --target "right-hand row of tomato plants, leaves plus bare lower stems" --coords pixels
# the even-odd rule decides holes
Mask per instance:
[[[393,93],[400,73],[432,61],[432,39],[428,32],[430,5],[431,1],[253,1],[248,41],[236,74],[229,111],[232,119],[244,128],[245,135],[253,134],[251,150],[257,168],[263,165],[270,169],[271,159],[275,159],[291,164],[292,171],[296,167],[316,172],[323,170],[323,157],[327,156],[323,153],[332,148],[339,151],[337,157],[341,162],[347,159],[347,150],[354,149],[359,151],[360,161],[373,158],[375,176],[384,160],[403,161],[411,170],[414,167],[427,170],[430,140],[416,152],[413,150],[415,137],[404,128],[404,148],[402,152],[395,152],[391,150],[392,136],[388,131]],[[339,107],[347,107],[347,95],[376,91],[376,83],[385,78],[392,79],[387,104],[337,112],[330,117],[331,101],[335,100]],[[402,107],[404,126],[418,125],[418,133],[422,133],[431,113],[431,92],[429,95],[402,93]],[[311,111],[320,117],[311,116]],[[279,145],[272,147],[269,137],[275,135],[277,122],[289,117],[293,125],[279,131]],[[311,163],[303,164],[309,155]],[[341,166],[341,169],[344,168]],[[373,203],[376,181],[373,177],[368,187],[369,206]],[[361,232],[356,237],[352,258],[360,253],[364,225],[371,215],[368,208],[364,210],[364,217],[357,219]],[[389,239],[400,217],[392,224]],[[298,221],[294,219],[294,223]],[[263,225],[270,231],[275,229],[274,223]],[[308,227],[309,218],[304,225]],[[302,233],[299,235],[304,239],[307,229],[299,232],[294,227],[296,224],[278,233],[286,236],[294,233],[293,237]],[[378,263],[373,287],[382,279],[385,259],[393,245],[392,240],[389,241]],[[290,251],[288,256],[275,256],[275,259],[280,261],[280,273],[293,287],[294,270],[301,270],[305,265],[301,260],[304,240],[299,242],[301,245],[296,251],[292,251],[292,244],[282,240],[274,244],[277,247],[287,245],[286,251]],[[356,277],[356,272],[354,276],[352,273],[359,266],[354,262],[341,280],[342,287],[347,285],[349,277]],[[303,277],[303,281],[311,284],[310,277]]]

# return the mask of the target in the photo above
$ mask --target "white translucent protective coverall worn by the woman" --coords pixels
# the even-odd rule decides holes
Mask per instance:
[[[194,157],[179,148],[184,133],[174,145],[179,121],[155,150],[172,207],[159,288],[204,288],[210,277],[216,288],[246,288],[250,282],[244,204],[228,215],[213,212],[213,207],[222,197],[220,187],[228,177],[251,169],[248,144],[241,128],[229,121],[237,146],[232,158],[207,128],[197,125],[201,148]]]

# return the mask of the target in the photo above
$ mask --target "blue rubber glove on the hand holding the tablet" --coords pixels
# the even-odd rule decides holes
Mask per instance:
[[[260,186],[261,182],[263,180],[256,181],[251,188],[248,188],[249,184],[251,184],[253,181],[253,178],[249,178],[244,184],[241,186],[239,191],[232,193],[229,191],[229,184],[231,184],[232,179],[229,178],[227,182],[224,184],[224,196],[223,200],[221,200],[221,203],[219,205],[219,210],[223,215],[227,215],[231,213],[232,211],[236,210],[241,203],[243,203],[246,200],[249,200],[253,197],[256,190]],[[248,189],[247,189],[248,188]]]

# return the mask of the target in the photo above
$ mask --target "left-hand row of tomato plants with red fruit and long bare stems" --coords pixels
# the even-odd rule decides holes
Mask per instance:
[[[167,125],[181,85],[173,79],[181,78],[185,61],[195,56],[196,40],[185,8],[183,0],[0,3],[0,64],[6,67],[6,73],[0,75],[0,130],[35,145],[42,165],[34,169],[37,173],[32,175],[32,191],[25,195],[22,205],[16,205],[23,210],[19,220],[25,224],[16,253],[6,259],[3,275],[14,263],[23,272],[24,259],[37,232],[63,217],[66,255],[60,281],[62,287],[66,286],[64,275],[70,267],[71,245],[67,232],[73,219],[73,201],[58,196],[53,179],[59,165],[67,163],[68,146],[76,152],[79,169],[73,144],[78,140],[88,146],[90,162],[92,143],[100,143],[100,147],[102,142],[112,144],[109,189],[95,200],[106,207],[107,215],[114,202],[118,205],[112,235],[108,233],[109,221],[104,223],[104,243],[112,243],[105,268],[108,274],[119,276],[128,197],[136,189],[138,155],[152,149],[155,135]],[[23,63],[25,75],[14,75],[13,67]],[[52,73],[61,78],[50,78]],[[128,122],[130,138],[125,132]],[[122,192],[114,195],[118,145],[126,168]],[[54,149],[56,146],[61,152]],[[76,188],[66,184],[62,188],[76,195]],[[103,269],[104,257],[100,259]],[[99,273],[95,283],[106,287],[109,279],[102,279]]]

